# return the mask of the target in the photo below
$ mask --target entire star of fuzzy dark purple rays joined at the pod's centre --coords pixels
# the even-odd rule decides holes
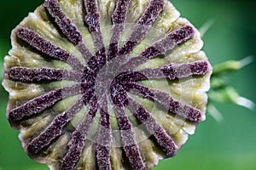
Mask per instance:
[[[67,17],[61,9],[57,0],[45,0],[44,7],[49,15],[55,20],[57,29],[67,37],[67,40],[79,49],[84,56],[86,63],[80,61],[73,54],[55,46],[54,42],[44,39],[37,31],[25,27],[18,27],[15,34],[20,38],[21,43],[27,48],[34,48],[38,54],[48,56],[49,59],[61,60],[73,67],[73,70],[54,68],[25,68],[15,66],[6,71],[7,78],[14,82],[25,83],[47,83],[62,80],[73,81],[70,87],[52,90],[37,98],[30,99],[9,111],[9,122],[20,123],[27,118],[39,116],[43,111],[51,108],[61,99],[82,94],[82,97],[74,101],[67,111],[55,116],[52,122],[32,137],[26,144],[26,150],[30,156],[37,156],[44,152],[50,144],[55,142],[62,133],[65,133],[67,124],[84,107],[89,105],[90,111],[78,127],[71,132],[70,141],[67,144],[67,151],[61,158],[60,169],[75,169],[82,155],[90,131],[91,124],[97,114],[100,117],[99,129],[96,134],[96,166],[98,169],[111,169],[110,149],[113,144],[113,130],[108,111],[109,105],[113,105],[116,120],[118,122],[122,150],[130,163],[132,169],[144,169],[146,160],[139,150],[136,141],[136,134],[132,124],[125,112],[129,109],[137,121],[146,127],[146,131],[154,137],[154,142],[160,146],[166,156],[174,156],[177,146],[171,136],[161,127],[154,117],[140,105],[136,100],[131,99],[128,93],[136,94],[144,99],[151,99],[158,102],[172,114],[183,116],[191,122],[201,121],[201,111],[190,105],[177,101],[170,94],[144,87],[140,81],[150,79],[167,78],[175,80],[178,78],[203,76],[209,71],[210,65],[207,61],[195,61],[186,64],[170,63],[169,65],[157,68],[146,68],[134,71],[138,65],[147,62],[159,55],[164,55],[177,45],[186,42],[195,34],[192,26],[183,26],[175,31],[169,32],[165,38],[154,42],[143,52],[134,58],[129,59],[137,44],[143,40],[148,31],[152,28],[154,21],[165,7],[165,0],[150,0],[148,7],[131,30],[130,37],[125,44],[119,48],[120,37],[125,29],[127,11],[131,0],[118,0],[112,14],[113,27],[110,35],[108,53],[103,43],[101,15],[97,8],[96,0],[84,0],[84,26],[89,28],[96,47],[96,54],[91,54],[85,47],[82,34],[73,21]]]

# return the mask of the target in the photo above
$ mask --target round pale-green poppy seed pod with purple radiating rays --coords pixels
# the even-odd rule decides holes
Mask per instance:
[[[11,38],[7,116],[50,169],[151,169],[205,120],[212,66],[166,0],[45,0]]]

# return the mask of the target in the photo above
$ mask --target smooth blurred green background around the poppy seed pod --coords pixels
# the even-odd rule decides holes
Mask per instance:
[[[0,3],[0,81],[3,57],[8,54],[9,35],[19,22],[43,0],[2,0]],[[172,0],[196,27],[213,21],[203,37],[204,50],[212,65],[228,59],[256,56],[256,2],[253,0]],[[255,57],[254,57],[255,58]],[[256,101],[256,61],[229,77],[238,92]],[[28,158],[21,149],[18,132],[5,117],[8,94],[0,87],[0,170],[44,170],[44,165]],[[175,158],[160,161],[160,169],[256,169],[256,113],[237,105],[214,103],[224,116],[216,122],[207,114],[196,133]]]

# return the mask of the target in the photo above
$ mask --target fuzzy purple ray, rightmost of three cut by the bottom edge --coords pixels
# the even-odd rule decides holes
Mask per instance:
[[[126,116],[124,108],[115,107],[115,114],[119,123],[119,130],[121,133],[123,149],[125,150],[125,156],[127,156],[132,169],[144,169],[143,158],[138,149],[138,145],[135,139],[135,133],[132,130],[131,122]]]

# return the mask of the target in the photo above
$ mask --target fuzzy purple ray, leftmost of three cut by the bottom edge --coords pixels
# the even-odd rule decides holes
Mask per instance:
[[[71,140],[68,143],[68,150],[66,156],[64,156],[61,162],[62,170],[72,170],[79,161],[80,156],[84,148],[84,141],[86,139],[87,133],[90,130],[90,126],[95,119],[97,104],[95,101],[90,101],[90,111],[84,117],[84,120],[79,123],[79,126],[72,133]]]

